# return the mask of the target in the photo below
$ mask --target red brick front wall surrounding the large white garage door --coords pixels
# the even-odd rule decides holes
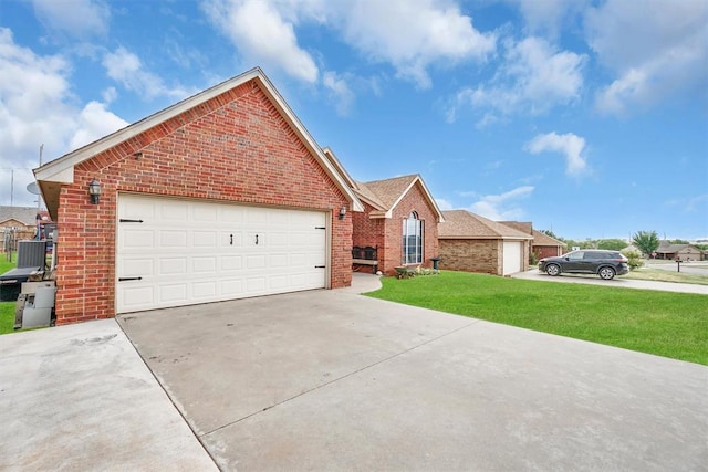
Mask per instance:
[[[103,186],[97,206],[92,178]],[[336,217],[348,203],[256,82],[82,162],[74,182],[59,203],[58,324],[115,315],[119,191],[332,211],[330,283],[351,284],[352,212]]]

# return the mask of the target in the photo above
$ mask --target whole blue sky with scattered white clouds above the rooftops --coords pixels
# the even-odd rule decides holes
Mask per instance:
[[[356,180],[572,239],[708,238],[705,0],[0,0],[0,204],[256,65]],[[11,191],[12,188],[12,191]]]

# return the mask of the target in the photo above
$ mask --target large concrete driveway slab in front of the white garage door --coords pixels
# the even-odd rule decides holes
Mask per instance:
[[[356,290],[118,324],[222,470],[708,470],[696,364]]]

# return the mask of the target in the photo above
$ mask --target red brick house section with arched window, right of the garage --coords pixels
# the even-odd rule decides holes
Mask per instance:
[[[341,168],[331,149],[325,154]],[[343,172],[345,174],[345,172]],[[354,269],[371,268],[395,274],[396,268],[431,268],[438,253],[438,223],[442,221],[433,196],[419,175],[371,182],[346,179],[364,203],[352,214]]]

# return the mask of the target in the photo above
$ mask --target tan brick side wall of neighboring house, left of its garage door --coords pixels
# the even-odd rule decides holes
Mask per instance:
[[[501,275],[502,241],[490,239],[441,239],[440,269]]]

